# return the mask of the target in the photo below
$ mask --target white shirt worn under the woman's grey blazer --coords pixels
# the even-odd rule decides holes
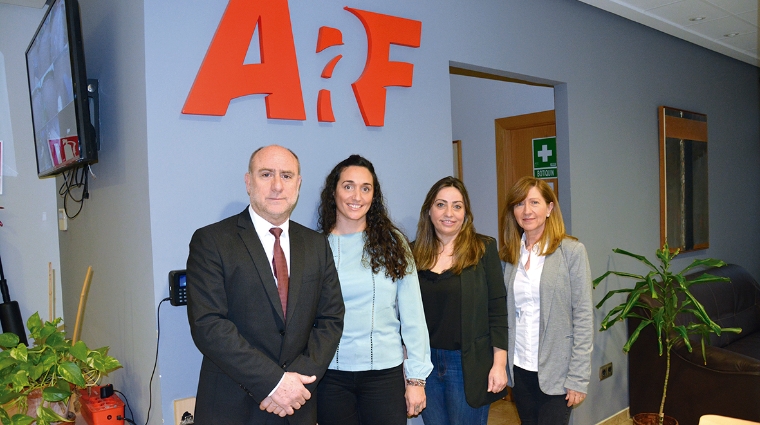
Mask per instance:
[[[515,275],[515,359],[522,369],[538,372],[538,332],[541,325],[541,272],[544,270],[543,250],[534,244],[525,249],[525,234],[520,242],[520,261]],[[525,264],[530,259],[530,269]]]

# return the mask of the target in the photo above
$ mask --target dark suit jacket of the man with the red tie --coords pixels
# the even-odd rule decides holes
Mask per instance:
[[[288,317],[248,209],[198,229],[187,259],[187,314],[203,354],[195,423],[259,424],[283,373],[321,379],[343,331],[343,297],[327,239],[290,222]],[[317,383],[307,386],[312,393]],[[316,397],[288,416],[316,422]]]

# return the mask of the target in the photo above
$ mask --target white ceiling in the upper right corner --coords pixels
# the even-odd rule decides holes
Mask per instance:
[[[758,0],[580,0],[760,67]]]

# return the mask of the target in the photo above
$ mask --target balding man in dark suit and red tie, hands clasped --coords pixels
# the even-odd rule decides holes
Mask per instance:
[[[307,400],[343,331],[332,252],[289,220],[301,186],[293,152],[256,150],[245,184],[251,205],[190,242],[187,314],[203,354],[195,423],[314,424]]]

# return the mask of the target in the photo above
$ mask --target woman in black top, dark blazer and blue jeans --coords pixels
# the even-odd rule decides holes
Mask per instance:
[[[444,177],[420,209],[414,259],[433,373],[426,424],[486,425],[507,386],[507,309],[496,241],[475,232],[467,189]]]

